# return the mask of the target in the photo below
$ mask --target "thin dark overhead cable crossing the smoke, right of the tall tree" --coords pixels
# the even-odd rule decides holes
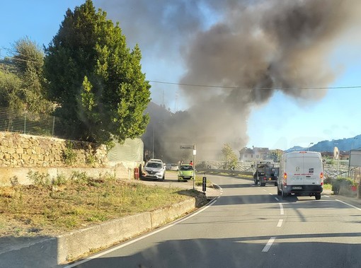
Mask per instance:
[[[333,86],[333,87],[315,87],[315,88],[257,88],[257,87],[252,88],[252,87],[240,87],[240,86],[214,86],[214,85],[199,85],[199,84],[191,84],[191,83],[174,83],[174,82],[153,81],[153,80],[148,80],[148,81],[151,83],[164,83],[164,84],[175,85],[175,86],[194,86],[194,87],[200,87],[200,88],[261,89],[261,90],[282,90],[282,91],[361,88],[361,86]]]

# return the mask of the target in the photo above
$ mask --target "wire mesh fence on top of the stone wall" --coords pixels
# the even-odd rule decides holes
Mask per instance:
[[[4,107],[0,107],[0,132],[65,137],[64,127],[58,117],[14,112]]]

